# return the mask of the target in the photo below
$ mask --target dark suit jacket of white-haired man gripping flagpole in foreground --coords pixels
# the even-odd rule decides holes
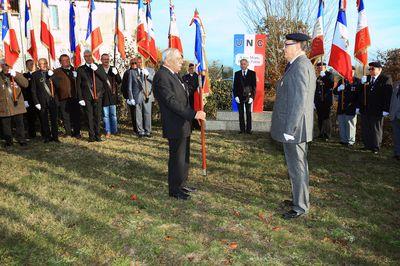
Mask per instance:
[[[190,107],[189,93],[177,74],[162,66],[153,79],[154,96],[161,111],[163,137],[179,139],[191,134],[196,112]]]

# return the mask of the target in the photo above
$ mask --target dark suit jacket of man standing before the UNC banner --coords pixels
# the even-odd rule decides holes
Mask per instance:
[[[235,72],[233,79],[233,97],[239,97],[241,102],[247,102],[249,98],[253,98],[256,94],[257,78],[256,72],[248,69],[245,77],[242,75],[242,70]],[[249,87],[249,91],[245,92],[245,87]]]

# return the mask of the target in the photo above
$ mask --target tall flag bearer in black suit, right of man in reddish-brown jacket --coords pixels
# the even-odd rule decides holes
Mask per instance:
[[[102,97],[106,86],[109,86],[107,74],[94,62],[92,52],[83,53],[85,63],[78,68],[76,88],[79,104],[83,107],[89,127],[89,142],[101,141],[100,120]]]

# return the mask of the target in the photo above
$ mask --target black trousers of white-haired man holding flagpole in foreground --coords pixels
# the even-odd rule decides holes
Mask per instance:
[[[168,139],[168,188],[170,193],[178,192],[185,185],[189,175],[190,137]]]

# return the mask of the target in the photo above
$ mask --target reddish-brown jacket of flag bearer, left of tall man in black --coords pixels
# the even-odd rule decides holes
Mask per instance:
[[[57,80],[56,94],[59,101],[64,101],[71,97],[77,98],[73,71],[75,71],[73,67],[70,70],[61,67],[54,70],[54,77]]]

